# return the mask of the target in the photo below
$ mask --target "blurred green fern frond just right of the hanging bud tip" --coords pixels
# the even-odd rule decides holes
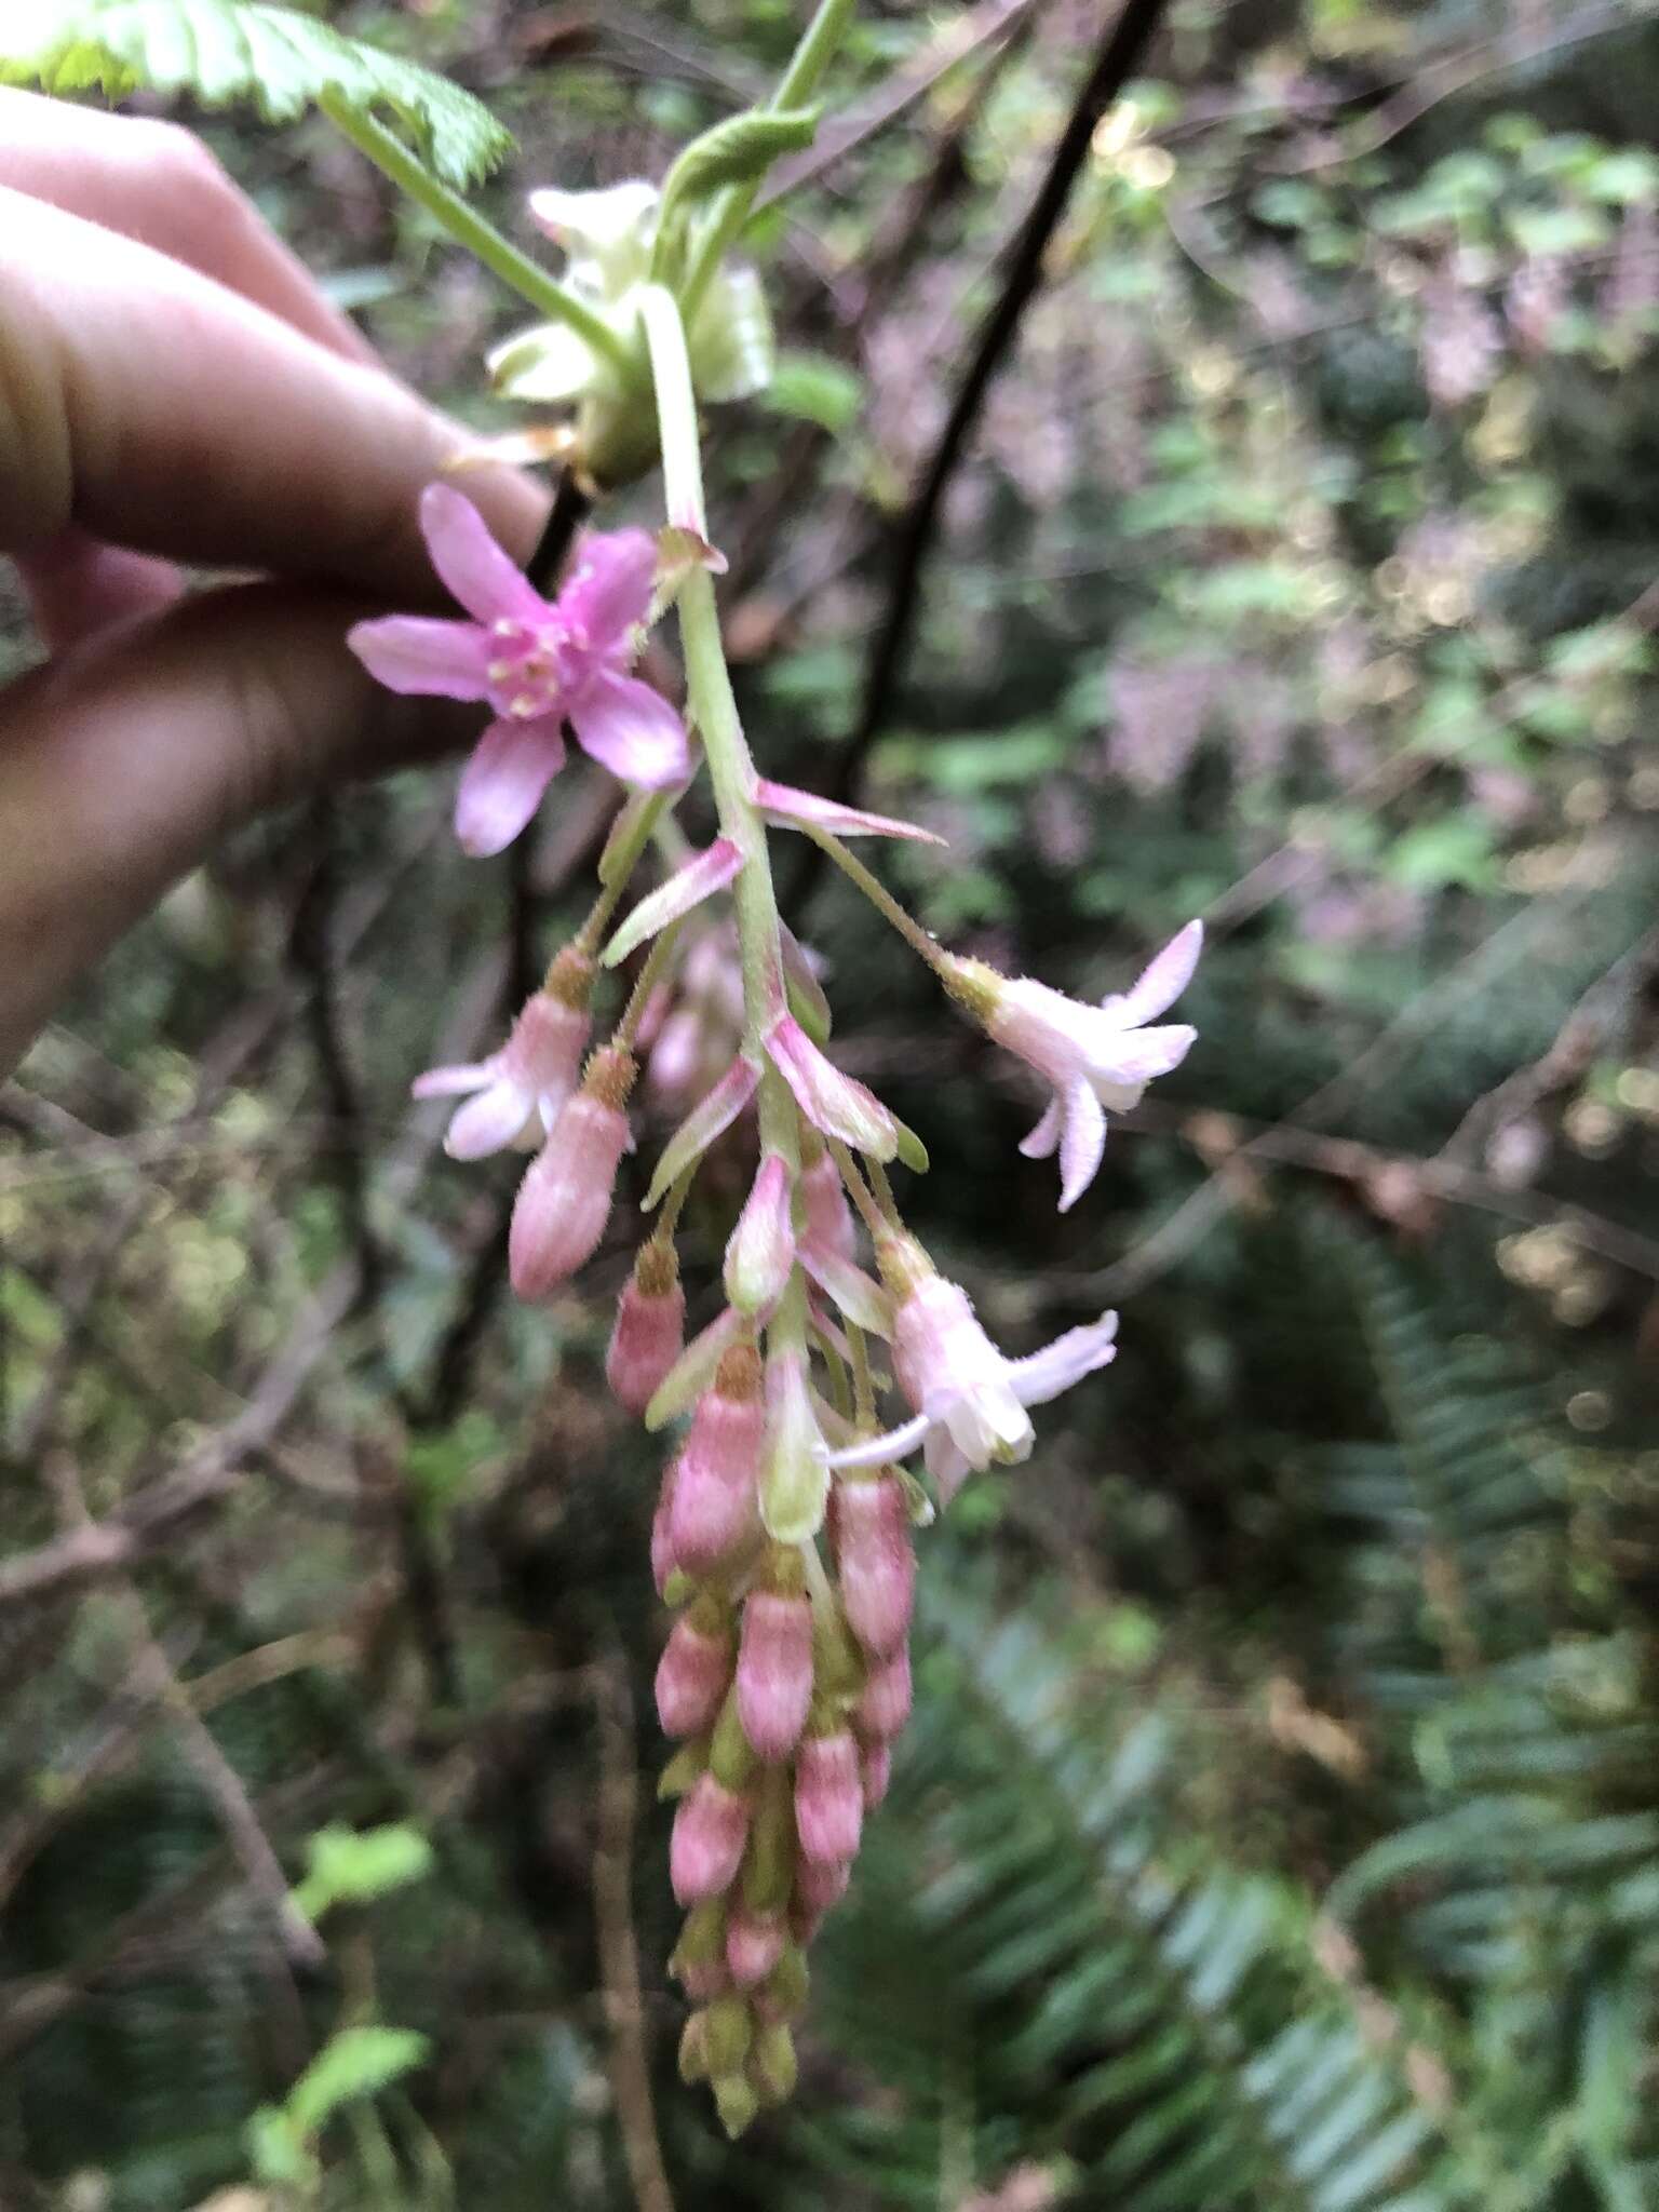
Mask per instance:
[[[1115,2212],[1440,2212],[1433,2121],[1316,1966],[1312,1902],[1186,1832],[1164,1721],[960,1588],[920,1639],[945,1650],[821,1989],[889,2095],[816,2157],[880,2203],[938,2203],[956,2143]]]

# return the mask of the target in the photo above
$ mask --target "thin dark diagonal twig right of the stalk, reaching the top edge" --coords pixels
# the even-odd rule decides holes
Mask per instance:
[[[1055,146],[1042,190],[1037,192],[1037,199],[1033,201],[1031,212],[1013,241],[1002,288],[980,325],[978,338],[973,341],[967,374],[956,392],[956,403],[951,405],[951,414],[940,431],[938,445],[933,447],[931,460],[927,462],[916,498],[911,500],[898,533],[891,584],[887,591],[887,613],[880,630],[876,633],[876,644],[865,670],[865,697],[858,723],[841,754],[832,785],[836,799],[849,799],[856,792],[865,757],[887,723],[894,688],[898,684],[898,672],[902,668],[905,650],[916,622],[922,571],[933,546],[945,493],[962,462],[973,429],[978,427],[984,396],[1013,347],[1020,332],[1020,319],[1042,283],[1048,241],[1066,212],[1071,188],[1077,181],[1077,173],[1088,155],[1088,142],[1106,108],[1119,95],[1135,69],[1139,69],[1161,18],[1164,0],[1124,0],[1117,22],[1108,31],[1106,42],[1095,58],[1095,66],[1088,71],[1088,80],[1077,93],[1066,128],[1060,133],[1060,144]],[[810,847],[805,865],[792,887],[796,902],[803,900],[812,883],[816,883],[821,865],[823,856],[816,847]]]

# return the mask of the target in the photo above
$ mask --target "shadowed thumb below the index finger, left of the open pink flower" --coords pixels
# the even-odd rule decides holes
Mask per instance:
[[[394,697],[345,650],[349,624],[378,611],[349,593],[230,586],[0,695],[0,1075],[228,830],[467,743],[476,710]]]

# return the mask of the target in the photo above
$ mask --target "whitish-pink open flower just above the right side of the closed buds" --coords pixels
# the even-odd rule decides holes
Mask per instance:
[[[894,1325],[894,1371],[916,1418],[887,1436],[847,1444],[830,1467],[883,1467],[927,1447],[927,1471],[949,1502],[967,1471],[1031,1458],[1026,1407],[1046,1405],[1115,1356],[1117,1314],[1066,1329],[1024,1360],[1004,1360],[973,1318],[960,1283],[931,1267],[911,1274]]]

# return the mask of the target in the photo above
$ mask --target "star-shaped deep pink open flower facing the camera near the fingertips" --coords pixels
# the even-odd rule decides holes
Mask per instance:
[[[544,599],[449,484],[427,484],[420,529],[431,566],[473,619],[385,615],[358,622],[347,644],[389,690],[487,699],[495,710],[456,794],[467,852],[502,852],[535,814],[564,765],[566,721],[624,783],[666,790],[686,776],[686,726],[626,672],[657,573],[644,531],[588,535],[557,599]]]

